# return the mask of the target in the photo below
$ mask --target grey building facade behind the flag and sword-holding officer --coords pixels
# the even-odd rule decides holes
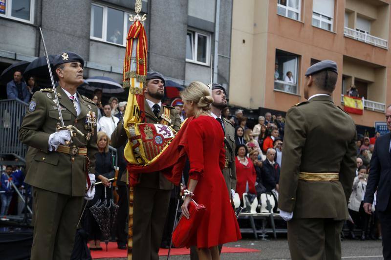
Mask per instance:
[[[84,57],[85,78],[122,82],[129,14],[135,0],[0,0],[0,73],[10,64],[49,54]],[[143,0],[149,70],[181,85],[214,80],[229,84],[232,0]],[[221,15],[220,15],[221,14]],[[5,86],[0,87],[5,98]]]

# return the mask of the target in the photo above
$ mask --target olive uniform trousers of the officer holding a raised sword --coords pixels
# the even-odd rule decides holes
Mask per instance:
[[[31,260],[69,260],[83,197],[34,187]]]

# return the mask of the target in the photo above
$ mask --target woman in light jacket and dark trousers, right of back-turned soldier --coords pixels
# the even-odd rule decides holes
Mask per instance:
[[[361,240],[365,240],[365,233],[368,229],[369,215],[365,213],[364,194],[367,189],[367,167],[360,166],[358,175],[353,180],[353,191],[350,195],[350,203],[348,203],[348,211],[356,225],[361,229]],[[354,238],[354,225],[349,225],[349,235]]]

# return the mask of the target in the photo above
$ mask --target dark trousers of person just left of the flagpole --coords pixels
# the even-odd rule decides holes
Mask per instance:
[[[117,244],[128,243],[128,217],[129,217],[129,189],[126,185],[117,186],[118,194],[118,215],[117,215]]]

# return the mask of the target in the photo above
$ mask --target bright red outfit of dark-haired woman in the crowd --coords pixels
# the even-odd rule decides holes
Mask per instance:
[[[239,194],[240,200],[243,200],[243,193],[246,192],[246,183],[248,181],[248,192],[252,194],[257,194],[255,189],[255,182],[257,181],[257,173],[253,162],[248,159],[248,164],[243,165],[238,160],[238,157],[235,157],[235,166],[236,166],[236,192]]]

